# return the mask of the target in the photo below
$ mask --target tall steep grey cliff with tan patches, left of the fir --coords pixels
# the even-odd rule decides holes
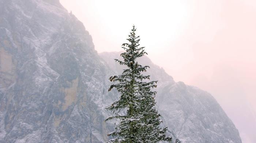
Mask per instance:
[[[0,40],[1,143],[107,140],[112,72],[74,15],[58,1],[0,0]]]

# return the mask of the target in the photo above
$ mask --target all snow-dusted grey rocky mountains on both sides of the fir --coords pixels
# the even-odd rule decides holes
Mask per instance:
[[[118,98],[108,92],[108,77],[121,69],[101,56],[106,61],[59,0],[0,0],[0,143],[108,140],[113,126],[104,122],[105,107]],[[154,67],[149,73],[159,80],[159,111],[174,137],[184,143],[241,143],[211,95],[175,83]]]

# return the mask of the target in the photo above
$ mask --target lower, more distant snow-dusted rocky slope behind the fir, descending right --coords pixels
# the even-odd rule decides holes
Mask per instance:
[[[99,55],[113,71],[120,73],[124,68],[113,60],[120,59],[120,53],[103,52]],[[152,80],[158,80],[158,110],[182,143],[241,143],[238,130],[210,94],[183,82],[175,83],[146,56],[139,62],[149,65],[147,74]]]

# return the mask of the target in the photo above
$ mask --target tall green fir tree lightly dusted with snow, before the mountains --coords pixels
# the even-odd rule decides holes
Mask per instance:
[[[122,45],[125,50],[121,53],[123,60],[115,59],[120,65],[126,65],[127,69],[124,69],[122,74],[109,78],[115,83],[110,86],[109,91],[116,88],[120,98],[107,108],[112,111],[113,116],[108,117],[106,121],[119,121],[114,131],[108,134],[114,137],[108,143],[172,142],[172,137],[166,135],[167,127],[160,127],[161,115],[155,108],[157,92],[151,90],[157,87],[157,81],[150,81],[149,75],[143,75],[149,67],[140,65],[136,60],[147,53],[144,51],[145,47],[139,47],[140,39],[135,36],[135,31],[133,25],[127,39],[129,43]],[[176,143],[178,142],[179,140],[176,140]]]

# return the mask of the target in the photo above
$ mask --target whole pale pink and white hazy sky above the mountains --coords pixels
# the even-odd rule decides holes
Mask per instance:
[[[255,0],[60,0],[98,52],[120,51],[132,25],[148,57],[176,82],[210,92],[256,143]]]

